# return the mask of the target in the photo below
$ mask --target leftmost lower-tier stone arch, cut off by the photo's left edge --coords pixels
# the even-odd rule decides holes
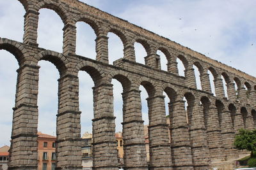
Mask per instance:
[[[20,43],[9,39],[0,38],[0,50],[12,53],[17,59],[19,66],[26,61],[28,52]]]

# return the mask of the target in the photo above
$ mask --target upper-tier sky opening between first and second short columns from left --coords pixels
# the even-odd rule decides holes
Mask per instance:
[[[64,24],[60,16],[48,9],[41,9],[39,12],[38,46],[62,53]]]

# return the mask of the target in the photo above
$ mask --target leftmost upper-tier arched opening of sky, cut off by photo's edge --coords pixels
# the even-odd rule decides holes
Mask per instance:
[[[0,37],[22,42],[26,11],[19,1],[1,1]],[[13,12],[15,11],[15,12]]]

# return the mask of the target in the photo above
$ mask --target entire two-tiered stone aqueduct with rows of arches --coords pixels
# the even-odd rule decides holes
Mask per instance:
[[[39,60],[49,60],[60,72],[57,169],[82,169],[78,71],[90,74],[95,84],[93,169],[118,169],[113,78],[124,88],[122,124],[126,169],[207,169],[211,162],[236,157],[237,150],[232,145],[235,132],[242,127],[255,127],[254,77],[76,0],[19,1],[26,10],[24,41],[0,38],[0,49],[13,53],[19,62],[9,169],[37,169]],[[56,11],[63,20],[63,53],[38,48],[38,11],[41,8]],[[76,55],[78,21],[89,24],[97,35],[95,60]],[[108,32],[115,33],[124,44],[124,57],[113,65],[108,64]],[[147,51],[145,65],[135,62],[134,42],[141,43]],[[166,55],[168,71],[161,70],[157,50]],[[186,68],[184,77],[178,74],[177,57]],[[196,89],[193,65],[199,68],[202,90]],[[216,97],[211,92],[208,70],[214,75]],[[227,82],[228,97],[224,94],[221,75]],[[149,165],[143,136],[140,85],[149,96]],[[170,127],[166,124],[163,92],[170,99]],[[184,97],[188,101],[187,113]]]

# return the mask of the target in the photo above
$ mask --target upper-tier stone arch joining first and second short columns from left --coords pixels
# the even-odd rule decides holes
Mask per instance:
[[[55,11],[61,18],[64,25],[66,25],[68,22],[71,22],[70,17],[68,17],[68,11],[61,5],[61,3],[56,3],[55,1],[41,1],[40,3],[37,3],[36,10],[39,11],[43,8],[53,10]]]

